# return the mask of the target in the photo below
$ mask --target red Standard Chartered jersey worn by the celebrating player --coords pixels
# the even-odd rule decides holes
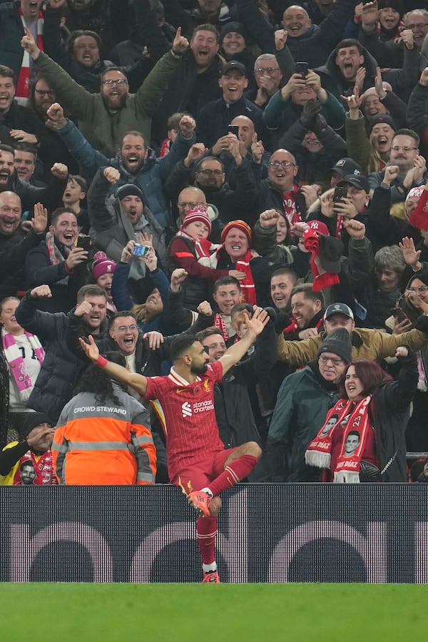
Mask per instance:
[[[144,397],[161,403],[157,410],[161,420],[164,417],[170,479],[192,459],[224,449],[214,409],[214,384],[222,378],[223,366],[219,362],[208,364],[207,372],[193,384],[174,368],[166,377],[148,377]]]

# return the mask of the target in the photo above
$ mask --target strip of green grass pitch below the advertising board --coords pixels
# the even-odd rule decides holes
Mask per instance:
[[[407,642],[427,603],[411,584],[0,584],[1,640]]]

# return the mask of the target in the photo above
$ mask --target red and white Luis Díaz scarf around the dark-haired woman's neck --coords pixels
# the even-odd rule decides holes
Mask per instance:
[[[330,468],[332,436],[335,428],[346,421],[340,455],[337,457],[335,470],[332,471],[334,484],[360,483],[361,457],[365,449],[367,432],[371,428],[369,419],[371,400],[370,394],[357,404],[354,404],[350,399],[339,399],[335,407],[328,412],[325,424],[318,432],[317,437],[307,447],[305,462],[308,466]],[[329,419],[333,414],[337,415],[337,421],[334,425],[329,426]],[[352,452],[347,453],[347,440],[352,437],[357,443]]]

